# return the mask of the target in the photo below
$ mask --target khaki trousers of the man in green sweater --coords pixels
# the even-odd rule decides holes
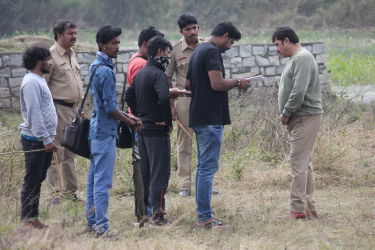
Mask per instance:
[[[292,193],[290,210],[316,211],[312,153],[322,114],[291,117],[287,130],[291,140]]]

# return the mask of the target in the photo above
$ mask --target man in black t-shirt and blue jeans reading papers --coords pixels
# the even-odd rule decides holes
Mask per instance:
[[[237,86],[244,88],[247,80],[243,77],[225,79],[221,53],[240,39],[241,33],[231,22],[221,22],[210,37],[195,48],[189,61],[185,88],[191,90],[189,126],[197,140],[197,227],[225,228],[212,215],[212,183],[219,169],[223,126],[230,124],[228,90]]]

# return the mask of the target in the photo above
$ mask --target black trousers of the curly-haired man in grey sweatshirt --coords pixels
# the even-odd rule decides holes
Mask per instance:
[[[23,151],[43,149],[42,142],[34,142],[21,136]],[[25,153],[25,177],[21,189],[21,221],[38,218],[41,185],[51,166],[52,152],[46,151]]]

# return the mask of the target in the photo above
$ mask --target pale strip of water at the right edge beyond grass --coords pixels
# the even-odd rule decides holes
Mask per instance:
[[[353,99],[357,102],[371,103],[375,101],[375,85],[332,86],[332,92]]]

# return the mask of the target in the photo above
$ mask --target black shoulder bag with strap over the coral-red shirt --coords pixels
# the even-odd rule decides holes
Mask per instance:
[[[145,58],[143,56],[135,56],[134,58],[132,58],[130,60],[130,62],[133,61],[134,59],[138,58],[138,57],[141,57],[141,58],[147,60],[147,58]],[[130,62],[129,62],[129,65],[130,65]],[[125,96],[126,84],[127,84],[127,81],[126,81],[126,75],[125,75],[123,93],[121,94],[121,100],[120,100],[120,105],[119,105],[120,111],[124,110],[124,104],[125,104],[124,96]],[[124,122],[118,121],[117,132],[119,134],[119,139],[116,140],[116,146],[118,148],[131,148],[133,146],[133,143],[132,143],[133,137],[132,137],[132,134],[130,132],[130,128]]]

